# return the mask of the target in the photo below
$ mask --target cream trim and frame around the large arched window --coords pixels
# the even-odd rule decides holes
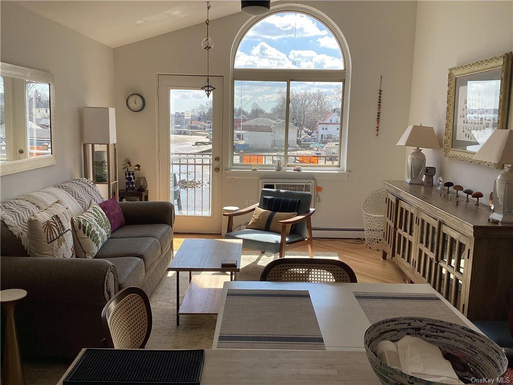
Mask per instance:
[[[317,19],[319,22],[324,24],[324,26],[332,33],[333,37],[336,38],[341,53],[343,57],[343,65],[344,69],[259,69],[259,68],[235,68],[235,56],[239,49],[239,45],[242,42],[244,36],[247,32],[258,22],[263,20],[264,18],[277,13],[283,12],[299,12],[306,14],[310,17]],[[236,35],[232,50],[231,50],[231,58],[230,58],[230,130],[229,130],[229,162],[228,169],[229,170],[245,170],[250,169],[251,165],[244,165],[240,163],[233,162],[233,138],[234,138],[234,130],[233,130],[233,122],[234,122],[234,84],[235,81],[281,81],[287,82],[287,105],[289,105],[290,100],[290,82],[342,82],[342,100],[341,100],[341,108],[340,108],[340,134],[339,134],[339,164],[338,165],[308,165],[308,164],[293,164],[288,163],[284,164],[283,167],[285,170],[291,169],[294,166],[304,167],[305,170],[315,171],[323,170],[323,171],[343,171],[346,170],[346,157],[347,157],[347,130],[348,130],[348,110],[349,110],[349,91],[350,91],[350,72],[351,72],[351,61],[349,56],[349,50],[347,46],[347,42],[345,38],[338,28],[338,26],[333,23],[328,16],[319,10],[298,4],[283,4],[273,6],[273,11],[268,14],[262,16],[253,16],[249,18],[249,20],[242,26],[239,30],[239,33]],[[347,111],[347,112],[346,112]],[[286,117],[285,117],[285,154],[288,155],[288,113],[289,108],[286,109]],[[288,161],[288,158],[287,158]],[[259,169],[271,171],[274,169],[274,165],[259,165]]]

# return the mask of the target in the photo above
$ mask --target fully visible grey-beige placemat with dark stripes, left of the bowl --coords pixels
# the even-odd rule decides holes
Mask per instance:
[[[217,347],[326,349],[307,290],[228,289]]]

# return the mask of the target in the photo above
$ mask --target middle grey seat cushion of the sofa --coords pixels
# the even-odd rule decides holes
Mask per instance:
[[[161,255],[160,243],[155,238],[108,239],[95,258],[137,257],[144,262],[145,271]]]

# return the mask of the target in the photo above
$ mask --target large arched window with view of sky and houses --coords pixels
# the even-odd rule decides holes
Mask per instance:
[[[232,166],[340,167],[344,64],[339,39],[309,14],[253,24],[233,57]]]

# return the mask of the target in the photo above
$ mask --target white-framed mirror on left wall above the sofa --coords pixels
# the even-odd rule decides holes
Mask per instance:
[[[0,63],[0,175],[55,164],[53,74]]]

